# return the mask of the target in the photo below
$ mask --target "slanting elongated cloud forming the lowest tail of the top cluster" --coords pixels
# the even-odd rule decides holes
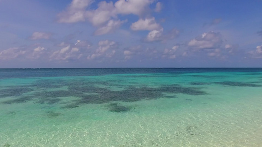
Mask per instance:
[[[127,20],[126,20],[127,21]],[[98,28],[95,32],[94,35],[103,35],[103,34],[107,34],[110,32],[115,31],[118,27],[120,27],[120,25],[122,25],[123,23],[125,23],[126,21],[114,21],[114,20],[110,20],[107,25],[104,25],[100,28]]]

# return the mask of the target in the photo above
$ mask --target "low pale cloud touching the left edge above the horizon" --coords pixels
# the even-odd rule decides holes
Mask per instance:
[[[0,59],[1,60],[8,60],[8,59],[14,59],[19,57],[20,55],[24,55],[26,53],[26,50],[22,48],[9,48],[2,50],[0,52]]]

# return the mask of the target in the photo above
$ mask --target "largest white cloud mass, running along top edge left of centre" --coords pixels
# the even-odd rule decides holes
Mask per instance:
[[[97,27],[94,34],[103,35],[114,32],[123,23],[127,22],[127,20],[119,20],[118,15],[133,14],[142,17],[149,13],[149,5],[155,2],[155,0],[118,0],[114,4],[112,1],[101,1],[98,3],[97,9],[87,9],[92,1],[73,0],[65,11],[58,14],[58,22],[77,23],[88,20],[93,26]],[[143,20],[139,21],[140,24],[143,23]],[[148,25],[151,25],[150,23],[154,22],[154,19],[144,20],[144,24],[146,21],[149,21]],[[151,25],[150,27],[150,30],[152,30],[159,27],[159,25]]]

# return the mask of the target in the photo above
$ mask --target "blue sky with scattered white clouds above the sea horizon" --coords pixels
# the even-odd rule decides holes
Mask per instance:
[[[0,0],[0,68],[262,67],[262,0]]]

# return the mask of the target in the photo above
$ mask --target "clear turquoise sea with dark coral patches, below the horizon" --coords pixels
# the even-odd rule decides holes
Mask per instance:
[[[262,69],[0,69],[0,147],[261,147]]]

